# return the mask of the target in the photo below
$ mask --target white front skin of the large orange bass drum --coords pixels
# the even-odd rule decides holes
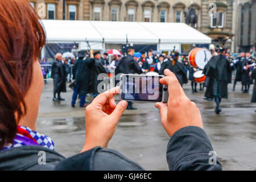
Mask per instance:
[[[196,65],[200,69],[204,69],[205,65],[208,63],[210,60],[210,51],[205,48],[201,48],[196,52]]]

